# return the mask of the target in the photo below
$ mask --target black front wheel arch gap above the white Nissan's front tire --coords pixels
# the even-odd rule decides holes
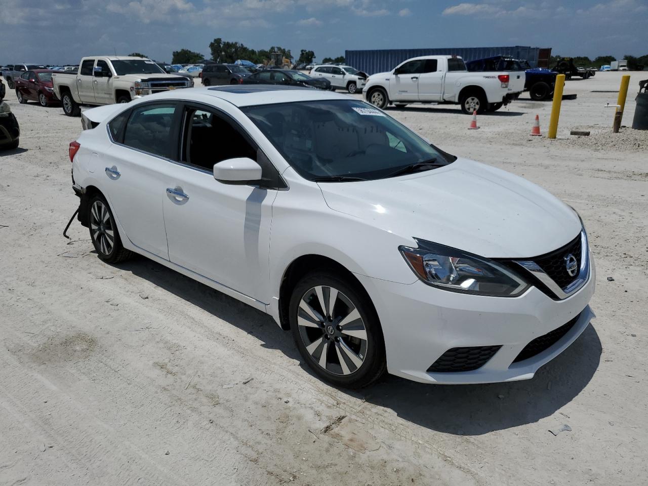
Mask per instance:
[[[290,306],[290,296],[292,295],[292,290],[295,288],[295,285],[299,280],[301,280],[305,275],[316,270],[329,270],[334,273],[337,273],[341,277],[349,279],[349,284],[353,285],[358,292],[367,297],[373,311],[376,312],[373,301],[369,297],[369,293],[356,278],[356,276],[346,268],[343,264],[334,260],[330,257],[325,257],[324,255],[318,255],[310,253],[308,255],[301,255],[300,257],[295,258],[290,262],[286,270],[284,270],[283,276],[281,278],[281,284],[279,286],[279,325],[281,329],[289,330],[290,329],[290,319],[288,319],[288,307]],[[377,316],[377,312],[376,312]]]

